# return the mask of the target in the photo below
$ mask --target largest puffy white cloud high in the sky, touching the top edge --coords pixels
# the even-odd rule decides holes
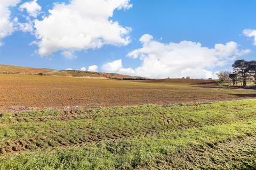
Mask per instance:
[[[38,53],[50,55],[58,50],[96,49],[103,45],[127,45],[130,28],[110,20],[114,10],[129,9],[130,0],[71,0],[55,3],[50,15],[35,21]]]

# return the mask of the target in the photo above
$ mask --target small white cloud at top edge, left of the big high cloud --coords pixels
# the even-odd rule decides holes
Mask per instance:
[[[41,11],[41,6],[37,4],[37,0],[34,0],[21,4],[19,10],[26,10],[29,16],[36,18],[39,12]]]

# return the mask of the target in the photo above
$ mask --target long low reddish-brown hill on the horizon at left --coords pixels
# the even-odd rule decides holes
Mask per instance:
[[[87,77],[87,78],[109,78],[119,80],[147,80],[143,77],[132,77],[130,75],[123,75],[117,73],[100,73],[91,71],[79,71],[79,70],[53,70],[53,69],[37,69],[33,67],[23,67],[15,65],[0,64],[0,73],[2,74],[27,74],[37,75],[39,73],[43,75],[53,75],[59,77]]]

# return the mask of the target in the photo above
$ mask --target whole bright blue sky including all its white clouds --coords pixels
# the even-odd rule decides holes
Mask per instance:
[[[256,60],[254,0],[0,0],[0,64],[216,78]]]

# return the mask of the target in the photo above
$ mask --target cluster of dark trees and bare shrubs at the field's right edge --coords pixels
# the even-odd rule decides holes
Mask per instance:
[[[237,82],[242,82],[242,86],[247,85],[248,80],[253,80],[256,85],[256,61],[237,60],[232,64],[233,72],[220,71],[217,73],[221,81],[232,80],[233,86]]]

